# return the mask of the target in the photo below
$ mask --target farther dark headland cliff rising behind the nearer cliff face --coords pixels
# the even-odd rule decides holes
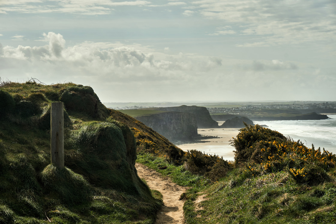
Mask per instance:
[[[210,117],[209,111],[203,106],[173,106],[173,107],[160,107],[163,111],[176,111],[182,113],[190,113],[195,115],[198,128],[218,128],[218,123]]]

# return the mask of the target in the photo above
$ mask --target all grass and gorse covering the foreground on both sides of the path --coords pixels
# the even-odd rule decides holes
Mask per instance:
[[[65,104],[62,170],[50,164],[54,101]],[[0,83],[0,223],[154,223],[161,194],[135,161],[190,187],[186,223],[336,223],[334,154],[259,125],[231,144],[235,161],[184,152],[88,86]]]

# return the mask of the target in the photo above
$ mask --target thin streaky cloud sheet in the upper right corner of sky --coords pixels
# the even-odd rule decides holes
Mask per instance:
[[[237,33],[255,37],[237,44],[239,47],[322,44],[336,40],[335,1],[201,0],[191,4],[207,19],[235,26],[233,30],[210,35]]]

